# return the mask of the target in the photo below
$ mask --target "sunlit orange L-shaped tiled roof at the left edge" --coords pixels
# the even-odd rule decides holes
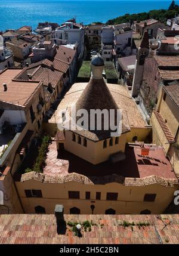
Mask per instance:
[[[0,101],[18,106],[27,106],[41,84],[32,81],[12,81],[21,69],[7,69],[0,73],[0,84],[7,84],[7,91],[0,90]]]

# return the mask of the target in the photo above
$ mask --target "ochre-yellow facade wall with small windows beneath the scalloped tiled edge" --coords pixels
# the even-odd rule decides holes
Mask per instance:
[[[54,213],[56,204],[64,205],[65,214],[69,214],[72,207],[81,209],[81,214],[91,214],[92,204],[95,205],[94,214],[104,214],[109,208],[115,209],[116,214],[139,214],[144,209],[149,209],[152,214],[161,214],[171,203],[174,191],[178,189],[178,186],[165,187],[158,184],[137,187],[119,183],[87,185],[75,181],[58,184],[28,180],[16,184],[25,212],[34,213],[35,206],[41,205],[47,214]],[[41,189],[43,198],[26,198],[24,189]],[[68,199],[68,191],[79,191],[80,199]],[[90,200],[85,199],[85,192],[91,192]],[[101,200],[95,200],[96,192],[101,192]],[[107,192],[118,193],[118,201],[106,201]],[[156,193],[155,202],[144,202],[146,193]]]

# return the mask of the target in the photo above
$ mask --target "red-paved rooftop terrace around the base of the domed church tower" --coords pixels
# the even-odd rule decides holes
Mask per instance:
[[[148,146],[145,147],[149,148]],[[171,164],[165,158],[162,147],[151,147],[149,155],[145,156],[141,155],[140,146],[127,145],[124,161],[116,164],[106,161],[98,165],[92,165],[90,162],[67,151],[58,153],[54,141],[48,149],[47,165],[44,168],[45,175],[64,177],[76,172],[88,178],[116,174],[125,178],[146,178],[154,175],[165,179],[176,179]]]

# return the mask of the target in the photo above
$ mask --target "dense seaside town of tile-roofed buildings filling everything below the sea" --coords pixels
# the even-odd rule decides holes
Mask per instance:
[[[179,15],[6,30],[0,84],[0,243],[179,243]]]

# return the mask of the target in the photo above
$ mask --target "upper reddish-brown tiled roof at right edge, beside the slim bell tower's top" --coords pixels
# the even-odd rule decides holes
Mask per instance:
[[[159,67],[179,67],[179,56],[154,56]]]

